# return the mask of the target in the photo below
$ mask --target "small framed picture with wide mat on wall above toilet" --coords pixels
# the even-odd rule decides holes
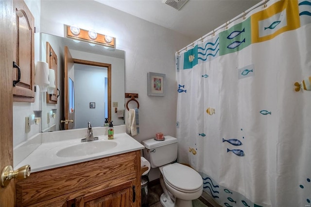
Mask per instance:
[[[165,74],[148,72],[148,96],[165,96]]]

